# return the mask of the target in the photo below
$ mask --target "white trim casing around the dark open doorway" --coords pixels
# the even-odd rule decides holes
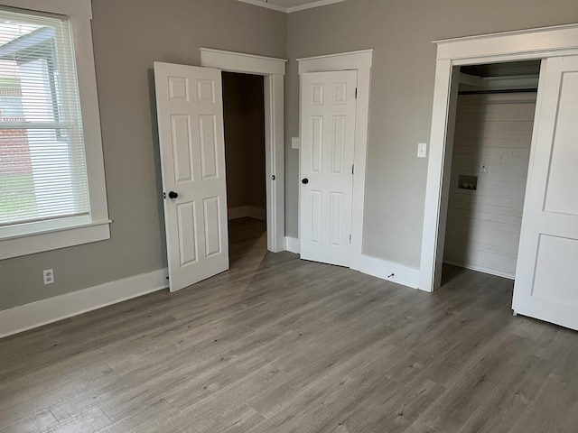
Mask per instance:
[[[287,60],[200,49],[200,66],[265,77],[265,179],[267,250],[285,246],[284,74]]]

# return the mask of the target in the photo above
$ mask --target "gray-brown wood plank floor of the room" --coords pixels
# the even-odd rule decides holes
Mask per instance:
[[[576,432],[578,334],[514,318],[512,282],[434,294],[266,253],[0,340],[5,432]]]

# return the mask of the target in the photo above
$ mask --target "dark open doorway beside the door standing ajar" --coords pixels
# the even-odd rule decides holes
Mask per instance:
[[[234,266],[267,250],[265,81],[260,75],[225,71],[221,77],[229,263]]]

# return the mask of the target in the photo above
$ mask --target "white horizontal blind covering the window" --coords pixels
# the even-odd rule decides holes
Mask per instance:
[[[0,10],[0,227],[89,212],[69,20]]]

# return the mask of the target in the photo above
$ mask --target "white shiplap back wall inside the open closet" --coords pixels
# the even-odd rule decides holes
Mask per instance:
[[[536,93],[459,97],[445,263],[516,275],[535,111]],[[459,175],[478,176],[477,189],[459,189]]]

